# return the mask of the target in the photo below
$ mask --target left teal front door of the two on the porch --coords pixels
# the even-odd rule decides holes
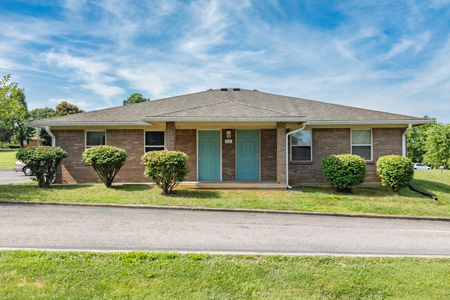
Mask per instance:
[[[220,180],[220,130],[199,130],[199,180]]]

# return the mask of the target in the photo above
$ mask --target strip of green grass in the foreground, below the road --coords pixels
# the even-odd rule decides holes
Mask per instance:
[[[450,259],[0,252],[1,299],[449,299]]]

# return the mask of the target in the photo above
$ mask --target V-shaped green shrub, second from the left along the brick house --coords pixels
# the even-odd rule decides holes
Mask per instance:
[[[125,160],[125,150],[110,145],[96,145],[82,153],[82,161],[91,165],[107,188],[111,187]]]

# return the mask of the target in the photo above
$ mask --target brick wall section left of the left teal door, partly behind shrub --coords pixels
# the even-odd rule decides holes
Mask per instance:
[[[174,150],[185,152],[189,159],[187,161],[189,173],[186,181],[197,181],[197,130],[195,129],[177,129],[175,130]]]

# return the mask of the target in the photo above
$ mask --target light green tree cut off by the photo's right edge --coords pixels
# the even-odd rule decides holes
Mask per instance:
[[[426,131],[424,164],[450,167],[450,124],[436,123]]]

